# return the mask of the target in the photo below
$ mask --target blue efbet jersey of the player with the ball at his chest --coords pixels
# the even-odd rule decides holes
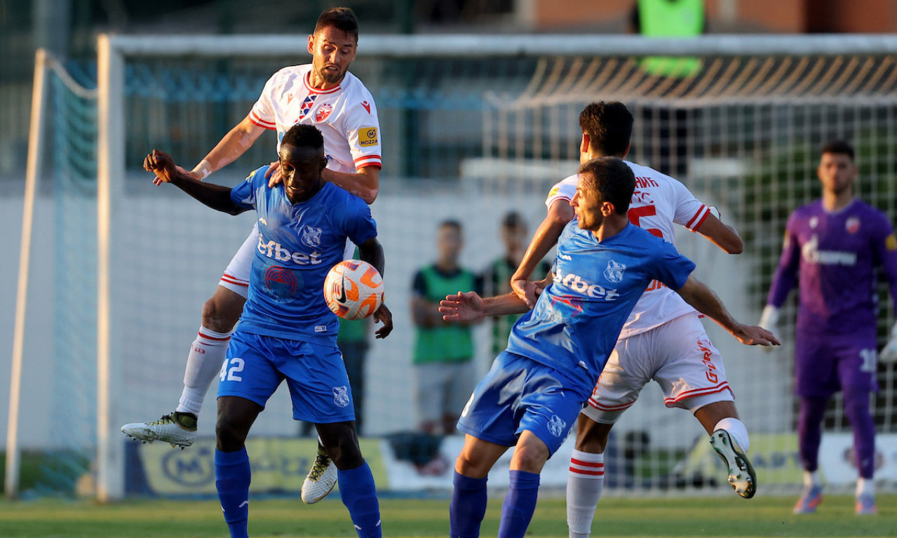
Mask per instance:
[[[343,261],[345,240],[377,237],[361,198],[325,183],[292,204],[283,187],[268,187],[262,167],[231,190],[234,204],[254,208],[258,244],[239,331],[291,340],[336,342],[337,318],[324,300],[324,280]]]

